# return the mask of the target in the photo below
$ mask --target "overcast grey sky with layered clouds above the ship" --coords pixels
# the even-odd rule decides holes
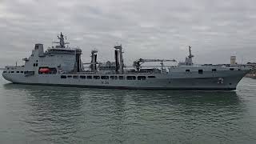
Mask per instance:
[[[0,0],[0,66],[22,64],[34,43],[46,49],[61,31],[84,62],[94,47],[113,60],[117,42],[126,64],[182,61],[187,46],[197,63],[256,62],[255,0]]]

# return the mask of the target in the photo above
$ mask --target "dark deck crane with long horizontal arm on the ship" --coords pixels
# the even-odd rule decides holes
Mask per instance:
[[[163,62],[177,62],[175,59],[143,59],[139,58],[137,61],[134,61],[134,67],[137,71],[140,70],[142,67],[142,64],[144,62],[160,62],[161,64],[161,70],[163,70]]]

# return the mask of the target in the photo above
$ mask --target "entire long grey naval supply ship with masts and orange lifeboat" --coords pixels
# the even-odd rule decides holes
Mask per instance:
[[[58,35],[56,46],[44,51],[35,44],[22,66],[6,66],[2,72],[7,81],[18,84],[49,86],[81,86],[92,88],[135,90],[235,90],[238,82],[250,71],[246,66],[194,65],[189,46],[185,62],[166,67],[163,62],[174,59],[134,61],[134,68],[124,65],[122,45],[114,46],[114,62],[98,62],[98,50],[92,50],[90,62],[81,60],[82,50],[72,48]],[[89,54],[88,54],[89,55]],[[142,68],[144,62],[160,62],[158,68]],[[86,69],[87,67],[87,69]]]

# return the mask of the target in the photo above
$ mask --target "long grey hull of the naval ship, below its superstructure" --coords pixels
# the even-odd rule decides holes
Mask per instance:
[[[119,79],[83,79],[81,76],[94,74],[2,74],[6,80],[31,85],[46,86],[76,86],[102,89],[132,89],[132,90],[236,90],[238,82],[248,73],[248,70],[211,71],[204,74],[174,72],[170,74],[154,74],[155,78],[148,78],[152,74],[102,74],[104,76],[146,76],[145,80]],[[73,78],[73,76],[76,76]],[[100,77],[102,75],[99,75]],[[72,76],[68,78],[68,76]]]

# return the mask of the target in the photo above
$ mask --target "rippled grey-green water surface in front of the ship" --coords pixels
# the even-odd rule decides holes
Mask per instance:
[[[229,92],[5,84],[0,87],[0,139],[6,139],[1,143],[254,143],[253,82],[245,78],[238,90]]]

